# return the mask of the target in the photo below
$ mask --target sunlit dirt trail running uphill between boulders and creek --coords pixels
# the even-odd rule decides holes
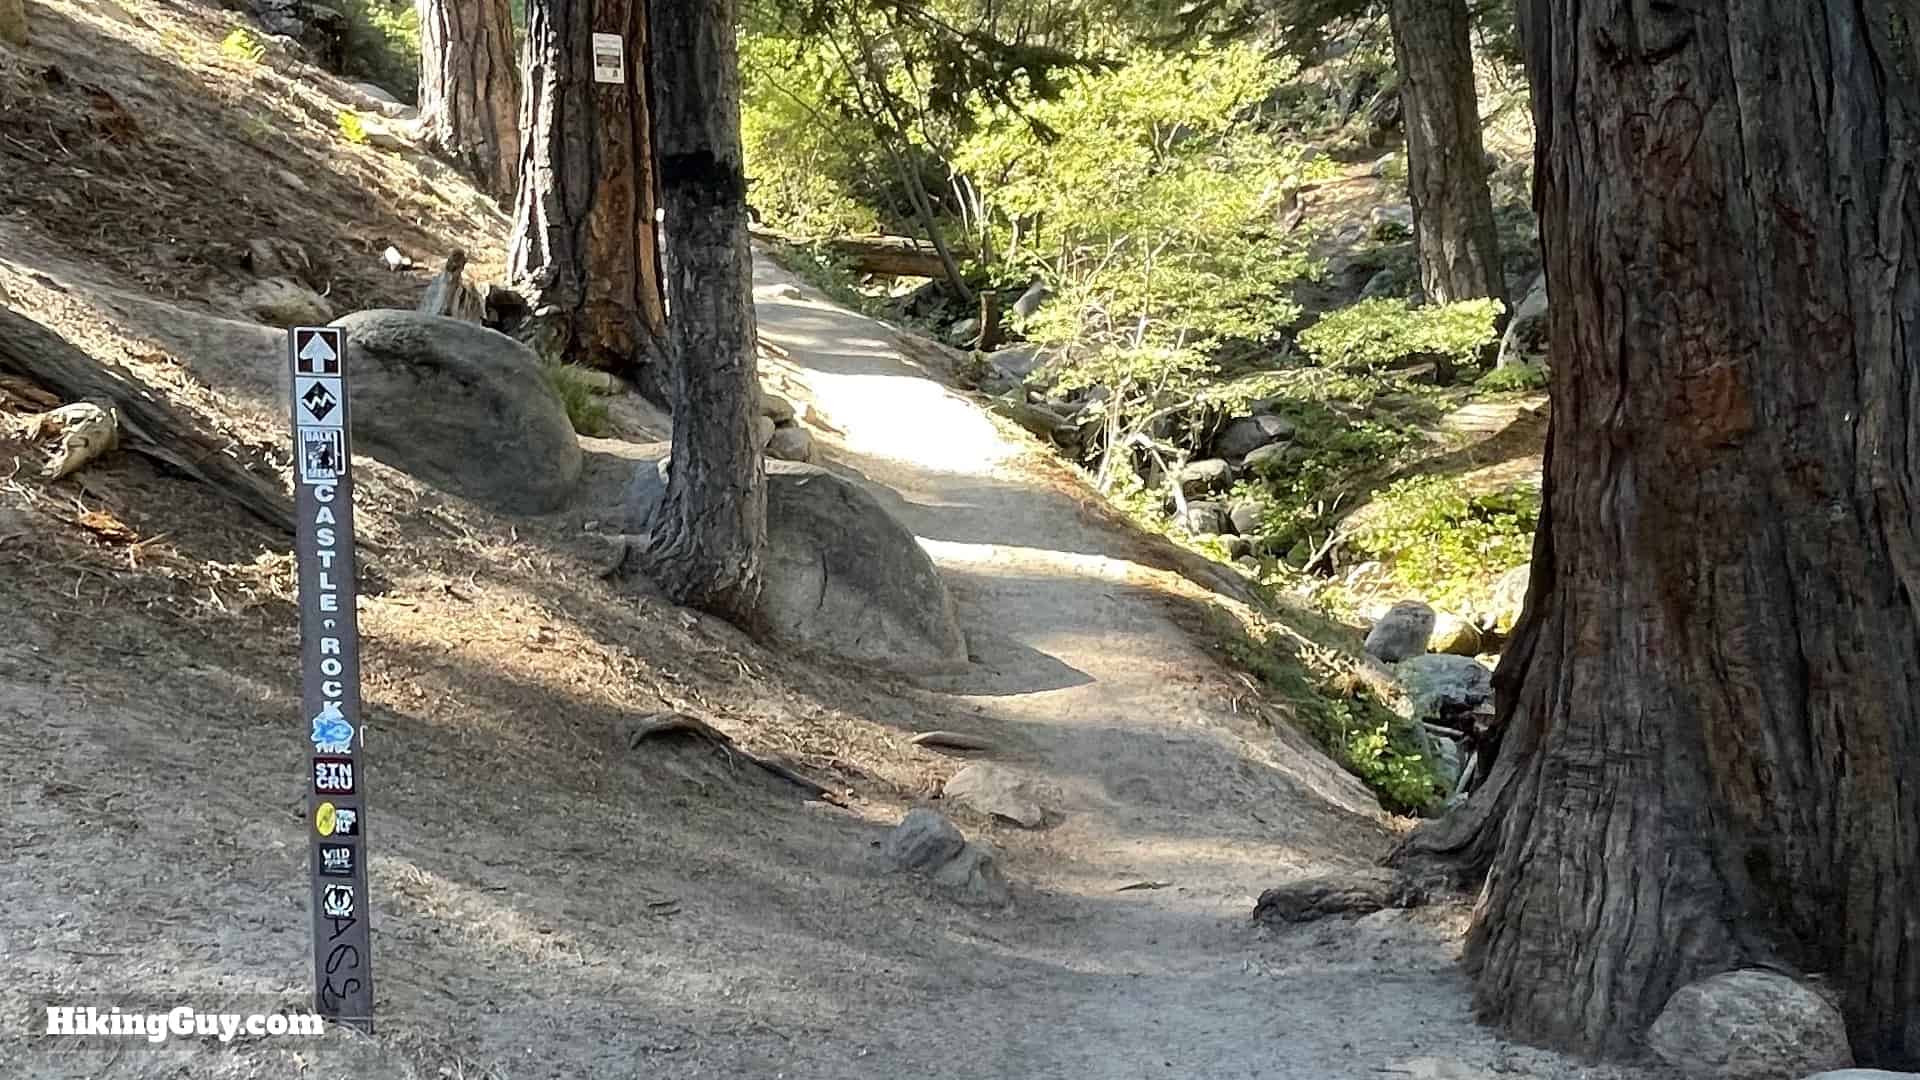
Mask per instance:
[[[787,379],[845,432],[833,463],[885,486],[956,594],[977,667],[927,686],[968,703],[1006,748],[991,757],[1056,815],[1000,834],[1035,890],[1002,934],[1050,974],[939,1001],[995,1045],[954,1076],[1611,1074],[1467,1020],[1463,911],[1250,930],[1263,886],[1380,851],[1367,792],[1236,713],[1171,617],[1190,586],[1129,561],[1029,438],[902,359],[885,327],[764,259],[755,284]]]

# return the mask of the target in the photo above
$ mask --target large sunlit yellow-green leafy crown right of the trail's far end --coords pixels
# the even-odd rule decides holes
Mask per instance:
[[[996,246],[1054,290],[1025,332],[1206,350],[1292,321],[1309,261],[1275,217],[1323,165],[1250,123],[1286,75],[1244,44],[1135,52],[1020,115],[987,110],[954,163],[989,179]]]

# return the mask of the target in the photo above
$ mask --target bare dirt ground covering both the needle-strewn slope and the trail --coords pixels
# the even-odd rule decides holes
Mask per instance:
[[[221,60],[236,15],[33,13],[33,50],[0,48],[4,302],[284,480],[275,334],[221,317],[232,248],[332,252],[349,309],[419,288],[376,267],[386,242],[478,263],[503,221],[424,158],[288,104],[317,75]],[[255,156],[307,196],[242,206]],[[305,748],[286,536],[134,454],[42,484],[0,434],[0,1078],[1655,1076],[1475,1026],[1459,905],[1252,926],[1263,888],[1365,865],[1405,822],[1271,723],[1286,701],[1260,701],[1200,630],[1227,600],[1171,573],[1164,540],[891,329],[766,263],[756,286],[785,354],[768,382],[924,538],[973,665],[906,680],[797,659],[609,584],[601,523],[662,434],[634,402],[618,438],[586,442],[582,500],[541,519],[357,463],[372,1036],[35,1038],[46,1003],[305,1005]],[[21,411],[0,388],[0,432]],[[707,744],[632,746],[662,711],[839,805]],[[908,742],[931,728],[993,749]],[[966,757],[1025,776],[1046,824],[939,801]],[[887,867],[877,844],[916,805],[998,851],[1010,905],[958,907]]]

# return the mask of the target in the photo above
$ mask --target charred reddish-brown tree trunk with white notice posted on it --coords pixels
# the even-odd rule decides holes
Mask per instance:
[[[593,33],[626,42],[593,81]],[[659,392],[666,334],[651,150],[645,0],[530,0],[520,194],[507,269],[536,352]]]

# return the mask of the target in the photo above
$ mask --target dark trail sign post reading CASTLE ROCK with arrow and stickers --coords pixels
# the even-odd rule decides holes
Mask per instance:
[[[372,1030],[367,934],[367,728],[353,611],[353,457],[348,356],[334,327],[294,327],[294,563],[300,571],[300,703],[307,765],[315,1011]]]

